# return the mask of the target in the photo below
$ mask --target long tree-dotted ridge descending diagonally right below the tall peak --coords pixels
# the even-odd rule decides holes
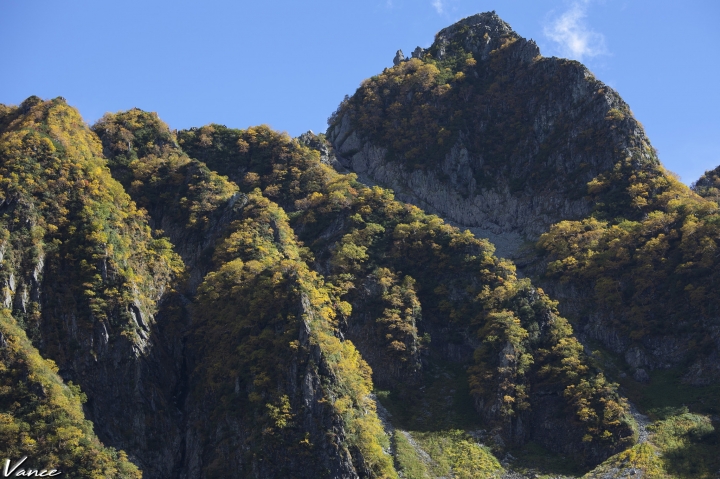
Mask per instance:
[[[554,303],[487,241],[336,173],[321,150],[265,127],[209,125],[178,138],[191,156],[288,208],[315,269],[352,305],[343,334],[412,411],[408,424],[458,427],[452,412],[428,411],[422,392],[433,388],[426,366],[455,364],[470,375],[449,391],[451,404],[472,397],[498,444],[533,439],[593,463],[633,441],[626,406]]]

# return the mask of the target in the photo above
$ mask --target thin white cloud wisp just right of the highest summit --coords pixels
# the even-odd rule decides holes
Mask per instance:
[[[576,0],[570,9],[544,28],[545,36],[560,46],[562,55],[582,61],[607,53],[605,37],[585,23],[589,0]]]

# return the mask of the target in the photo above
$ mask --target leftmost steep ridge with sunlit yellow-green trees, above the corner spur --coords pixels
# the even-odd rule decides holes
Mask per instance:
[[[174,430],[162,394],[173,366],[152,364],[171,362],[157,348],[154,315],[179,258],[151,235],[64,100],[31,97],[4,107],[0,123],[3,307],[87,394],[98,436],[162,467],[167,451],[149,447],[143,429]]]

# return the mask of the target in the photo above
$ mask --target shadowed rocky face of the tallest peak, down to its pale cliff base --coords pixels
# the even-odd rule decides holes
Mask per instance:
[[[423,167],[393,147],[398,138],[382,137],[358,121],[367,114],[359,107],[363,87],[341,107],[327,138],[339,162],[361,179],[477,228],[502,253],[512,255],[521,238],[537,239],[557,221],[587,215],[593,205],[585,197],[586,183],[629,156],[630,148],[649,148],[639,124],[620,113],[628,108],[612,89],[577,62],[541,57],[535,42],[519,37],[494,13],[441,30],[428,54],[438,64],[471,54],[476,64],[437,100],[439,116],[445,104],[461,108],[462,121],[438,123],[451,135],[425,155]],[[420,89],[410,88],[405,97],[393,91],[384,104],[416,110],[409,98]],[[622,120],[612,120],[615,111]],[[380,123],[388,115],[376,114]]]

